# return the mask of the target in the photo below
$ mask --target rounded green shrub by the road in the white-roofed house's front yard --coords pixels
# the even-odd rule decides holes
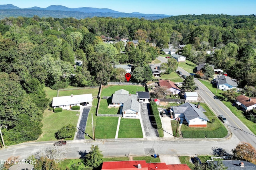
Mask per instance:
[[[57,139],[66,139],[66,138],[72,138],[74,137],[76,133],[76,126],[74,125],[67,125],[62,127],[60,130],[58,130],[55,135]]]

